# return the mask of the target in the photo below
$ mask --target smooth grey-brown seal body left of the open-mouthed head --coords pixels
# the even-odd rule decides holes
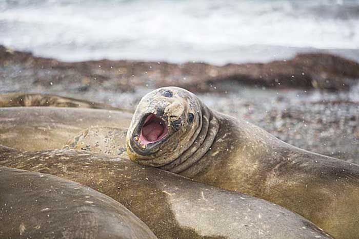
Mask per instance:
[[[0,144],[22,150],[62,148],[91,126],[128,127],[132,114],[70,107],[0,107]]]

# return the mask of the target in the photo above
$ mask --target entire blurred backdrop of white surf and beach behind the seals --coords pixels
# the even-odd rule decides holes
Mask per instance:
[[[164,85],[359,163],[359,1],[2,0],[0,93],[134,110]]]

